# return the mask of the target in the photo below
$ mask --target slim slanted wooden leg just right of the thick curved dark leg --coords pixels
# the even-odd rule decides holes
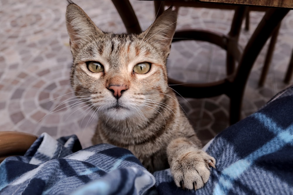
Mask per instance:
[[[268,47],[267,55],[265,57],[265,63],[263,65],[263,71],[261,72],[260,80],[258,82],[259,87],[263,86],[263,84],[265,83],[265,79],[266,79],[266,77],[268,75],[268,71],[270,69],[270,63],[271,63],[271,60],[272,60],[272,55],[273,55],[273,52],[274,52],[274,49],[275,49],[275,44],[277,42],[277,37],[278,37],[278,34],[279,34],[279,30],[280,30],[280,26],[281,26],[281,23],[275,28],[274,32],[272,33],[272,37],[271,37],[271,40],[270,40],[270,45]]]

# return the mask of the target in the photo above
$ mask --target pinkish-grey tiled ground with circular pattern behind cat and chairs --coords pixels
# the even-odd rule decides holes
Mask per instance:
[[[110,0],[75,1],[103,30],[125,32]],[[154,18],[153,3],[132,0],[142,28]],[[96,117],[71,93],[71,53],[65,28],[66,1],[0,1],[0,131],[54,137],[77,134],[84,146],[91,145]],[[196,27],[228,32],[233,11],[182,8],[178,28]],[[263,13],[251,13],[251,30],[242,31],[243,46]],[[282,82],[293,44],[293,14],[282,23],[272,65],[264,87],[258,87],[265,50],[254,65],[243,101],[242,117],[263,106],[286,87]],[[206,42],[174,43],[168,61],[170,76],[184,82],[222,78],[225,52]],[[228,126],[229,99],[180,99],[204,143]]]

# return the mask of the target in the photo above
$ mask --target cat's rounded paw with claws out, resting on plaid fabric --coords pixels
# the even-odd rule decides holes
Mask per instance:
[[[201,150],[189,151],[173,159],[170,167],[175,184],[183,189],[199,189],[209,179],[210,166],[215,167],[213,157]]]

